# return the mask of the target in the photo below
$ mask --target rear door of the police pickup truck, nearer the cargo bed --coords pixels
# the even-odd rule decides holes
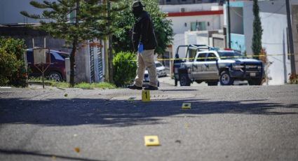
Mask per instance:
[[[205,63],[206,55],[207,53],[199,53],[198,56],[194,59],[191,71],[194,80],[201,80],[205,77],[203,73],[203,65]]]

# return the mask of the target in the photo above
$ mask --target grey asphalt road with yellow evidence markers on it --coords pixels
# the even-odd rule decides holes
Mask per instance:
[[[298,160],[298,85],[169,85],[150,95],[0,89],[0,160]],[[148,135],[161,145],[144,146]]]

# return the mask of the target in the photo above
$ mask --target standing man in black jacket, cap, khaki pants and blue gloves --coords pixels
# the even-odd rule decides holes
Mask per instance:
[[[129,89],[142,90],[144,72],[147,67],[149,73],[149,86],[144,90],[158,90],[156,66],[154,63],[154,50],[156,48],[156,36],[149,14],[143,10],[141,1],[133,1],[132,9],[135,15],[133,25],[133,48],[137,51],[137,76],[133,85],[128,85]]]

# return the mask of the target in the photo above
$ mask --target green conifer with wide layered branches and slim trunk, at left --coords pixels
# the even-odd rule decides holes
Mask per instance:
[[[109,8],[112,5],[112,8]],[[72,46],[70,55],[70,87],[74,87],[74,63],[79,43],[93,38],[106,38],[115,29],[111,27],[119,10],[120,0],[57,0],[30,1],[35,8],[43,9],[42,15],[32,15],[27,11],[21,14],[41,20],[40,29],[54,38],[63,38]],[[109,14],[108,14],[109,11]],[[72,16],[74,15],[74,16]]]

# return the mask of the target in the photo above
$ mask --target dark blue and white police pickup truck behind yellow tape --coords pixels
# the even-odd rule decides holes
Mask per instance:
[[[185,58],[180,59],[181,55]],[[261,85],[264,67],[257,59],[248,59],[233,50],[216,50],[207,45],[180,45],[173,70],[181,86],[205,82],[208,85],[233,85],[234,80],[248,80]]]

